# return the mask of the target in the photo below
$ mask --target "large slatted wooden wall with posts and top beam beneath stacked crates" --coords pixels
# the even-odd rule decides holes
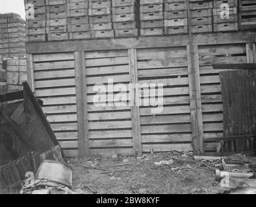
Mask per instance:
[[[224,136],[224,124],[220,78],[212,63],[254,62],[255,34],[198,34],[191,45],[188,39],[183,35],[27,43],[30,85],[44,101],[47,120],[66,155],[140,155],[151,149],[214,153],[211,139]],[[152,114],[151,106],[136,104],[93,104],[94,85],[106,85],[109,78],[114,85],[162,83],[162,113]],[[146,93],[134,93],[138,100],[147,99]],[[129,102],[129,91],[122,94]]]

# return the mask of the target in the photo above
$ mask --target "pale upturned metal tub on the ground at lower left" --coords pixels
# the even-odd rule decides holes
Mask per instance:
[[[55,160],[44,160],[36,173],[36,180],[40,180],[40,184],[46,185],[53,183],[63,184],[72,187],[72,171],[70,166]]]

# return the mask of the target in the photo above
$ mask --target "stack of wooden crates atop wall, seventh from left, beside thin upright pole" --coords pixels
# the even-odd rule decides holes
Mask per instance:
[[[164,0],[164,34],[188,32],[186,0]]]

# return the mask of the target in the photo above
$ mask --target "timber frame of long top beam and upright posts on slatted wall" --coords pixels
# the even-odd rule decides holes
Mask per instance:
[[[254,31],[239,31],[239,32],[216,32],[205,34],[187,34],[179,36],[153,36],[153,37],[138,37],[138,38],[113,38],[113,39],[89,39],[89,40],[75,40],[75,41],[54,41],[54,42],[28,42],[26,43],[27,50],[27,69],[28,79],[32,90],[34,90],[34,74],[33,74],[33,62],[32,55],[34,54],[47,54],[47,53],[64,53],[74,52],[75,57],[75,71],[76,71],[76,87],[79,93],[81,89],[80,85],[86,85],[83,79],[83,72],[79,72],[79,69],[84,68],[84,54],[81,51],[89,52],[95,50],[121,50],[128,49],[131,62],[131,82],[136,82],[136,64],[134,65],[134,58],[136,61],[137,49],[150,49],[150,48],[167,48],[167,47],[186,47],[188,52],[188,78],[189,78],[189,90],[190,90],[190,115],[192,120],[192,136],[193,136],[193,150],[195,155],[203,155],[203,121],[201,111],[201,96],[200,96],[200,80],[199,80],[199,63],[198,63],[198,47],[203,45],[227,45],[227,44],[246,44],[246,56],[248,63],[255,62],[255,32]],[[192,38],[192,39],[191,39]],[[252,46],[253,45],[253,46]],[[172,58],[172,57],[170,57]],[[189,63],[193,60],[193,65]],[[82,62],[81,62],[82,61]],[[135,69],[134,69],[135,68]],[[191,69],[195,70],[195,75],[191,76]],[[135,74],[134,74],[135,71]],[[82,76],[82,77],[81,77]],[[83,87],[84,88],[84,87]],[[191,96],[192,91],[195,91],[198,96]],[[82,108],[86,107],[86,96],[78,97],[77,100],[77,114],[79,125],[79,155],[89,155],[88,151],[88,126],[86,125],[87,114],[83,112]],[[192,104],[193,101],[193,104]],[[85,106],[84,106],[85,105]],[[80,113],[79,109],[81,110]],[[134,107],[132,109],[133,122],[133,139],[134,146],[133,151],[135,156],[140,156],[141,138],[140,127],[136,129],[136,125],[139,125],[138,109]],[[80,120],[80,121],[79,121]],[[197,127],[193,126],[197,125]],[[135,131],[134,131],[135,128]],[[83,130],[83,133],[81,130]],[[194,138],[199,136],[199,138]],[[86,147],[81,146],[86,145]]]

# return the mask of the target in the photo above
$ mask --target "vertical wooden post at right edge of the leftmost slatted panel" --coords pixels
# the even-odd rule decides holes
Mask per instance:
[[[79,156],[89,155],[88,108],[86,102],[86,69],[84,51],[75,56],[75,89],[77,97],[77,130]]]

